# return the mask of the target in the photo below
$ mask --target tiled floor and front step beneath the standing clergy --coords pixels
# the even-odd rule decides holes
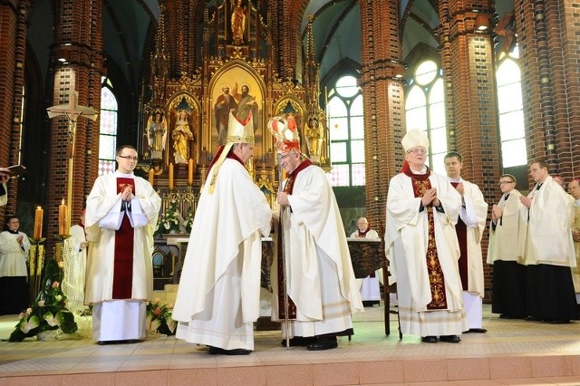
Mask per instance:
[[[280,346],[278,331],[256,332],[248,356],[209,355],[205,347],[151,337],[99,346],[78,335],[55,341],[0,342],[4,385],[580,385],[580,322],[552,325],[498,319],[485,306],[485,334],[462,343],[420,343],[384,335],[382,307],[354,316],[351,342],[308,352]],[[7,338],[15,317],[0,317]]]

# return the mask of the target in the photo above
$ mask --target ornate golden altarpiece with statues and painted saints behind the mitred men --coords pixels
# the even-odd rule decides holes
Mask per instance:
[[[227,113],[254,113],[256,146],[248,165],[256,185],[273,203],[278,171],[270,117],[293,114],[303,152],[330,169],[328,130],[319,105],[318,64],[314,61],[312,19],[307,26],[302,83],[280,79],[268,2],[222,0],[210,2],[203,15],[201,65],[195,73],[169,73],[169,17],[160,5],[160,22],[150,57],[150,98],[141,102],[139,169],[153,169],[154,187],[163,198],[162,212],[177,201],[182,217],[196,209],[208,164],[225,139]],[[186,50],[192,43],[183,44]],[[179,52],[174,53],[181,56]],[[174,58],[175,59],[175,58]],[[189,162],[191,159],[191,162]],[[191,165],[189,165],[191,163]],[[169,169],[173,165],[173,183]],[[172,185],[173,188],[169,188]]]

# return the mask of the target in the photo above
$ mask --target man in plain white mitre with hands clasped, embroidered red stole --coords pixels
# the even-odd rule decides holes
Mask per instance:
[[[422,130],[408,131],[401,144],[405,162],[389,183],[385,235],[401,332],[424,343],[459,343],[468,325],[455,233],[461,196],[425,165],[429,140]]]

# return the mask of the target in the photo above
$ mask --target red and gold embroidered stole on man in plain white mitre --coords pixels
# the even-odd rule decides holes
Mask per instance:
[[[405,168],[405,166],[407,166],[407,168]],[[431,188],[429,180],[430,169],[427,169],[427,173],[425,174],[415,174],[405,162],[401,171],[411,177],[415,197],[422,197],[425,190]],[[445,294],[445,277],[443,277],[443,271],[437,254],[437,245],[435,244],[435,220],[433,217],[433,207],[425,207],[423,210],[427,211],[427,221],[429,224],[429,242],[427,244],[427,256],[425,256],[425,259],[427,263],[427,273],[429,274],[431,302],[430,304],[427,304],[427,309],[441,310],[447,308],[447,298]]]

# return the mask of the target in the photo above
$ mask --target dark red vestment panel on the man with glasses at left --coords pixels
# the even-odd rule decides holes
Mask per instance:
[[[130,185],[135,195],[135,180],[117,178],[117,193]],[[123,214],[121,227],[115,231],[115,259],[112,276],[112,298],[131,299],[133,287],[133,243],[134,231],[126,213]]]

